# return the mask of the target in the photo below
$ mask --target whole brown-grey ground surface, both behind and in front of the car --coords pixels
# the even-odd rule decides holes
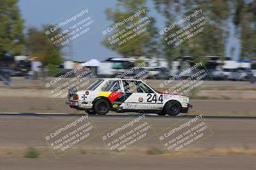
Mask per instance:
[[[148,150],[161,148],[159,138],[153,136],[132,148],[131,152],[113,158],[102,138],[96,136],[56,159],[42,135],[70,120],[74,114],[83,112],[74,111],[65,104],[56,106],[51,99],[1,99],[0,169],[255,169],[256,102],[192,100],[191,103],[191,113],[202,113],[212,134],[191,146],[188,153],[173,158],[148,154]],[[253,117],[247,117],[248,113]],[[133,114],[109,113],[91,115],[90,118],[99,132],[103,132]],[[146,114],[146,117],[156,132],[188,119],[186,114],[178,117]],[[24,158],[26,148],[31,146],[40,150],[38,159]]]

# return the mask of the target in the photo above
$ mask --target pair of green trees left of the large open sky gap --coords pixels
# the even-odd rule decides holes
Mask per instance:
[[[38,57],[52,74],[58,72],[56,66],[63,62],[60,46],[56,47],[56,52],[47,40],[44,29],[31,27],[24,34],[24,20],[20,17],[17,3],[17,0],[0,1],[0,59],[16,55]]]

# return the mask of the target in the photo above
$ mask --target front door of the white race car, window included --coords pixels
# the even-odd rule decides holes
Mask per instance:
[[[154,90],[139,80],[123,80],[125,110],[159,110],[161,104]]]

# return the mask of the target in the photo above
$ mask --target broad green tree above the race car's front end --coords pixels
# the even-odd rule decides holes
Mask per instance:
[[[176,57],[182,57],[184,55],[190,55],[193,58],[204,55],[220,55],[224,56],[225,53],[225,41],[223,40],[223,25],[225,25],[225,19],[229,14],[227,1],[196,1],[186,0],[177,3],[175,0],[162,1],[154,0],[156,10],[159,11],[166,18],[166,25],[170,24],[172,20],[178,20],[179,16],[184,15],[186,11],[191,10],[201,4],[204,13],[209,17],[209,20],[214,27],[214,31],[209,31],[199,38],[189,41],[187,45],[181,48],[170,46],[170,52],[166,52],[166,58],[168,60],[174,60]],[[179,29],[179,28],[177,28]]]

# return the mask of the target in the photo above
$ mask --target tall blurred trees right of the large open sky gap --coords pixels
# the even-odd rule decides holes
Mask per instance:
[[[183,15],[185,11],[200,4],[204,13],[209,17],[213,31],[207,32],[203,36],[189,41],[182,48],[175,49],[170,53],[164,43],[159,41],[156,32],[152,32],[145,39],[138,39],[126,46],[124,50],[117,52],[125,56],[129,55],[161,55],[168,60],[173,57],[191,55],[193,57],[204,55],[225,56],[225,44],[230,32],[228,31],[227,20],[231,18],[232,23],[236,26],[236,36],[239,38],[241,45],[241,58],[247,57],[256,59],[256,0],[152,0],[155,9],[165,18],[166,26],[171,20],[177,20],[177,17]],[[147,6],[146,0],[117,0],[115,8],[108,8],[106,15],[108,20],[119,20],[121,16],[136,7]],[[121,17],[122,19],[123,17]],[[153,21],[154,18],[152,18]],[[106,43],[103,43],[106,45]],[[109,47],[108,45],[106,45]],[[136,49],[134,49],[136,48]],[[171,47],[172,48],[172,47]],[[148,53],[150,50],[151,53]],[[234,50],[234,49],[233,49]],[[232,57],[232,56],[230,56]]]

